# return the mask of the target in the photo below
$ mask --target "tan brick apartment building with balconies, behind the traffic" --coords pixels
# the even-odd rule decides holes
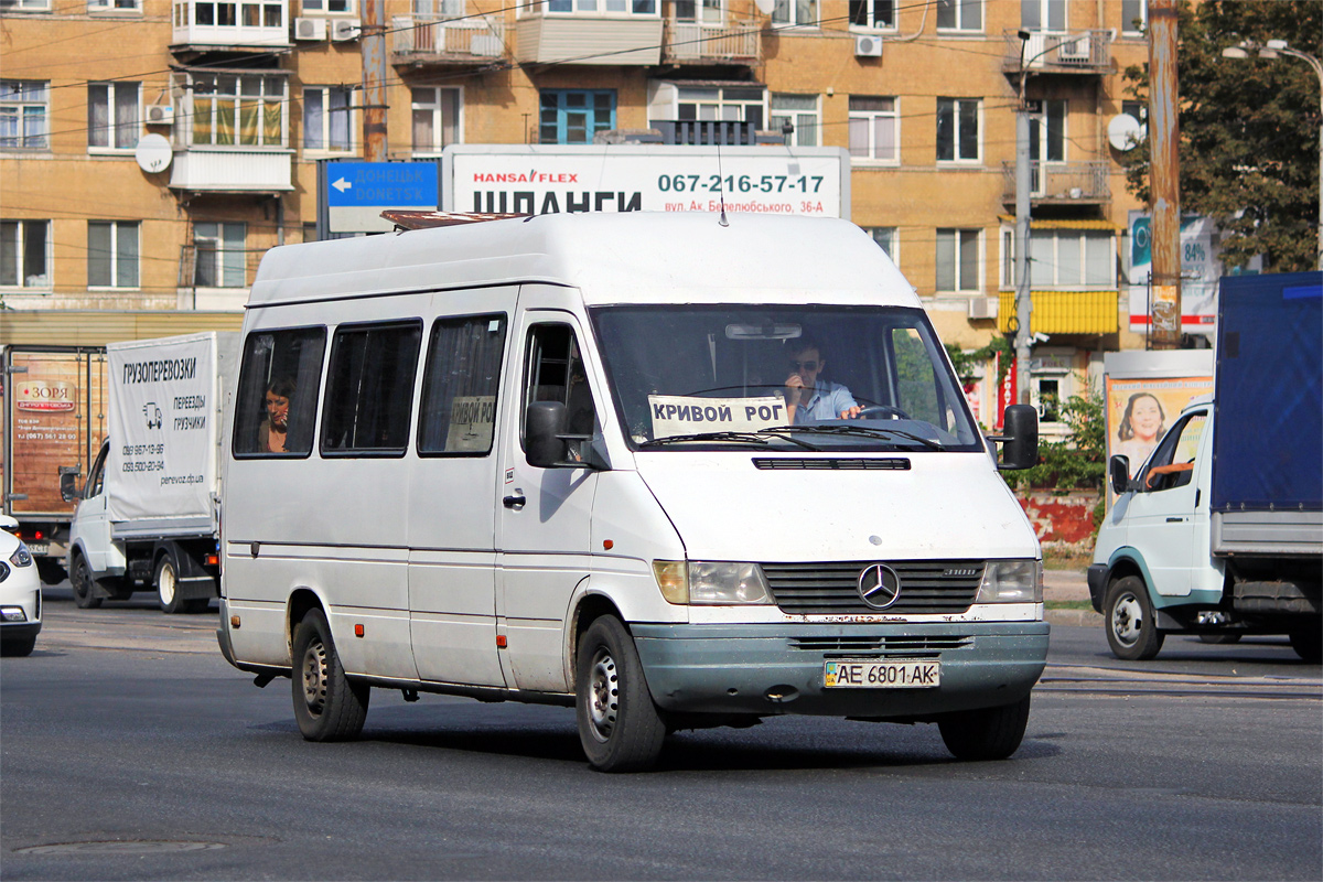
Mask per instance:
[[[1122,73],[1147,58],[1143,0],[377,1],[388,159],[618,130],[684,143],[689,120],[845,147],[849,220],[966,349],[1013,315],[1023,74],[1050,337],[1033,395],[1143,345],[1122,272],[1140,206],[1107,139],[1139,112]],[[0,0],[0,344],[237,327],[263,251],[316,235],[318,161],[363,155],[365,7]],[[146,135],[169,141],[161,171],[135,159]],[[972,391],[984,422],[992,386]]]

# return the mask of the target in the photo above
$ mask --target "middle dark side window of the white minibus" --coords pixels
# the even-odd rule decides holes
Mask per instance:
[[[402,455],[409,447],[422,321],[341,325],[331,341],[321,455]]]

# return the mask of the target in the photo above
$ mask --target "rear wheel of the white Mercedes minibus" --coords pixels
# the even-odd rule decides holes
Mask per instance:
[[[321,610],[294,628],[294,718],[306,741],[352,741],[368,718],[372,686],[344,676]]]

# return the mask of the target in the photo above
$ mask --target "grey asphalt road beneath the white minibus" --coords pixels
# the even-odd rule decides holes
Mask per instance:
[[[214,612],[46,616],[0,662],[4,879],[1323,877],[1323,686],[1281,640],[1135,665],[1057,627],[1007,762],[786,717],[622,776],[556,707],[376,690],[361,741],[311,744]]]

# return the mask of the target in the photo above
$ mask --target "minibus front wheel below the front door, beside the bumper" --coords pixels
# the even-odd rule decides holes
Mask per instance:
[[[634,639],[615,616],[598,618],[579,639],[574,694],[579,742],[594,768],[636,772],[656,763],[665,723]]]

